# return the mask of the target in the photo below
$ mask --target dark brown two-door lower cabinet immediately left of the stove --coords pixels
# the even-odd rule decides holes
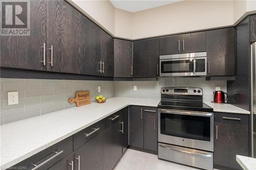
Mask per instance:
[[[157,108],[130,106],[130,145],[157,152]]]

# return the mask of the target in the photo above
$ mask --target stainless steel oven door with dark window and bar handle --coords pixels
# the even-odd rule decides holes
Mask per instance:
[[[213,152],[214,115],[158,109],[158,141]]]

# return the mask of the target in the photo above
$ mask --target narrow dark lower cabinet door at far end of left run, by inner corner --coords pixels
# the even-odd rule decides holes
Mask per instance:
[[[122,121],[123,121],[122,153],[124,153],[129,145],[129,107],[125,107],[122,110]]]

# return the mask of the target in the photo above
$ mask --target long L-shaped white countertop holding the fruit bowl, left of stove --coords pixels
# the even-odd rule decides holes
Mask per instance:
[[[160,99],[110,98],[0,126],[0,169],[8,168],[129,105],[157,107]]]

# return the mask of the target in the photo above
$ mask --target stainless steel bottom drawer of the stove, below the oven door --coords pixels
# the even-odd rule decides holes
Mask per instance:
[[[213,153],[158,143],[158,158],[203,169],[213,169]]]

